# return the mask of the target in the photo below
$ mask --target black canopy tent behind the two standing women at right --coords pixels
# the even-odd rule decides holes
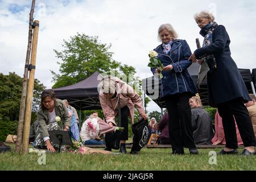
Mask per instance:
[[[193,81],[197,85],[197,77],[200,65],[193,63],[189,68],[188,72],[191,75]],[[256,85],[256,68],[253,72],[250,69],[239,69],[243,81],[245,82],[246,88],[249,93],[255,94],[254,85]],[[254,82],[254,85],[253,85]],[[158,89],[154,90],[158,86]],[[154,76],[148,77],[142,80],[142,89],[160,108],[166,107],[163,99],[160,97],[161,81]],[[208,91],[207,91],[207,79],[200,84],[200,88],[197,88],[203,105],[208,105]]]

